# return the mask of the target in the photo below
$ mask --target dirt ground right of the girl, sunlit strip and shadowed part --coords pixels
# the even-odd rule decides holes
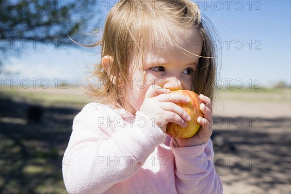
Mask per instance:
[[[212,138],[224,193],[291,193],[289,95],[221,94]]]

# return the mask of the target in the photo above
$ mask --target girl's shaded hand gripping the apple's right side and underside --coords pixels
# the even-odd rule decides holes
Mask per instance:
[[[210,136],[212,134],[212,103],[209,97],[204,95],[199,95],[199,98],[202,100],[202,104],[200,104],[200,110],[204,114],[205,118],[198,117],[197,121],[201,125],[198,132],[190,138],[180,139],[175,138],[179,147],[187,147],[187,146],[197,146],[200,144],[204,144],[208,142]]]

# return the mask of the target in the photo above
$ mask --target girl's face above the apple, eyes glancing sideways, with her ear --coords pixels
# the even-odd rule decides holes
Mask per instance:
[[[195,32],[192,37],[187,42],[179,43],[183,49],[166,43],[162,49],[154,49],[152,44],[148,44],[144,52],[144,66],[141,62],[130,62],[130,84],[126,92],[123,91],[130,113],[135,114],[140,110],[146,91],[152,85],[170,90],[192,90],[203,43],[199,33]]]

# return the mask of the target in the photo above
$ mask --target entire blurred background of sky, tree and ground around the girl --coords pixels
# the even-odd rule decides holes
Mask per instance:
[[[62,157],[89,101],[70,84],[100,61],[100,47],[68,35],[95,44],[101,34],[92,32],[102,32],[116,2],[0,1],[1,194],[67,193]],[[224,193],[290,194],[291,1],[195,2],[218,34],[216,83],[224,87],[211,138]]]

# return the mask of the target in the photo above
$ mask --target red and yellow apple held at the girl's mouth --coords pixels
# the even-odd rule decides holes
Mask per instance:
[[[191,121],[187,123],[188,125],[185,128],[182,128],[176,123],[168,123],[166,133],[174,138],[189,138],[194,136],[201,126],[197,123],[197,118],[199,116],[203,117],[203,113],[200,110],[200,104],[202,103],[202,101],[195,92],[190,90],[176,90],[171,91],[171,93],[178,93],[190,97],[191,100],[188,104],[176,104],[184,109],[191,116]]]

